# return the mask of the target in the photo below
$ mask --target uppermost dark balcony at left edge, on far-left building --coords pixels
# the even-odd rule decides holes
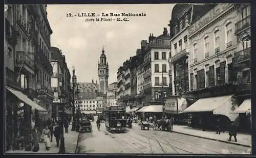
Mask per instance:
[[[5,19],[5,36],[10,44],[17,44],[17,31],[10,24],[10,21],[8,19]]]

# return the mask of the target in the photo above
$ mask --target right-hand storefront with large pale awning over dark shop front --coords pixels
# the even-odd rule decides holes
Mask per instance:
[[[232,114],[238,107],[233,95],[200,98],[184,113],[192,115],[191,126],[203,129],[216,129],[217,119],[220,119],[223,129],[228,129],[231,121],[238,125],[238,114]]]

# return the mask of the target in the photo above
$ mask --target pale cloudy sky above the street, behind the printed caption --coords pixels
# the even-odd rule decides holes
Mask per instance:
[[[150,34],[161,35],[163,28],[169,32],[167,24],[174,6],[48,5],[47,17],[53,31],[51,46],[61,49],[71,75],[72,66],[75,67],[77,82],[98,81],[98,61],[104,46],[111,84],[117,82],[117,69],[123,62],[136,55],[141,40],[148,40]],[[67,17],[69,13],[73,17]],[[102,13],[145,13],[146,16],[127,17],[129,21],[86,21],[95,17],[78,17],[78,13],[96,13],[98,18],[102,18]]]

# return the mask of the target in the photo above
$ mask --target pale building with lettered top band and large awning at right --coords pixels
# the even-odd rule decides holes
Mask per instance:
[[[234,55],[239,46],[234,30],[240,17],[236,4],[218,4],[188,29],[191,91],[187,97],[199,100],[184,112],[192,113],[194,120],[202,120],[205,128],[210,128],[206,124],[214,124],[217,118],[241,124],[239,114],[233,113],[241,103],[234,75]],[[225,123],[223,128],[228,126]]]

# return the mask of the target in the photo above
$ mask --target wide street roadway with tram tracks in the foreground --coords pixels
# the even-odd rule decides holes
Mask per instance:
[[[141,130],[133,124],[125,133],[109,133],[101,123],[92,122],[92,133],[79,136],[78,153],[155,153],[155,154],[243,154],[249,147],[213,141],[167,131]]]

